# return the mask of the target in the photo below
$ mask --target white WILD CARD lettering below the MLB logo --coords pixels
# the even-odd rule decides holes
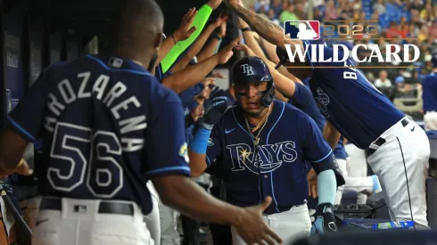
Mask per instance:
[[[359,59],[358,52],[359,48],[364,48],[367,50],[367,45],[354,45],[352,50],[350,51],[349,48],[346,45],[333,45],[333,52],[334,56],[326,58],[324,49],[325,45],[323,44],[312,44],[310,51],[309,51],[309,45],[306,45],[304,50],[301,49],[301,45],[294,45],[292,48],[292,45],[285,45],[285,49],[288,53],[288,57],[290,61],[295,61],[296,59],[299,59],[299,61],[304,62],[306,54],[308,52],[309,56],[311,57],[311,62],[342,62],[346,61],[349,58],[352,58],[354,61],[357,61],[359,63],[362,62],[372,62],[377,61],[379,63],[388,62],[391,63],[393,61],[397,62],[415,62],[419,59],[420,56],[420,50],[416,45],[403,45],[402,54],[400,55],[400,45],[385,45],[385,53],[382,53],[379,49],[379,46],[373,45],[373,48],[369,51],[371,51],[370,55],[368,57],[364,57],[362,59]],[[392,50],[393,48],[393,50]],[[413,57],[410,57],[408,53],[410,51],[413,51],[414,55]]]

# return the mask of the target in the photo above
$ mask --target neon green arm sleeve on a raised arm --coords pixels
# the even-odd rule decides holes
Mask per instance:
[[[193,26],[196,28],[194,33],[186,40],[178,42],[177,45],[173,46],[164,59],[162,59],[162,72],[167,72],[171,65],[177,60],[177,57],[183,53],[189,45],[192,45],[197,37],[199,37],[203,28],[205,27],[206,21],[210,18],[211,12],[212,9],[208,4],[204,4],[199,9],[199,12],[197,12],[197,15],[194,17],[193,21]]]

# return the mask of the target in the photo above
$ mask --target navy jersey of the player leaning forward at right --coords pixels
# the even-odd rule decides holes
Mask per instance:
[[[313,51],[313,48],[317,50]],[[324,46],[323,51],[324,60],[333,59],[332,48]],[[317,45],[309,45],[309,60],[312,52],[318,55]],[[344,62],[312,62],[311,66],[313,75],[309,87],[319,110],[360,149],[367,149],[383,132],[405,117],[359,69],[347,68],[352,66],[350,59]],[[338,68],[319,69],[319,66]]]

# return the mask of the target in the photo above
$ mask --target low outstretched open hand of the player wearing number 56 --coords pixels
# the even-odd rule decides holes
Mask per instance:
[[[267,197],[260,205],[244,208],[239,215],[241,223],[235,225],[236,232],[247,244],[281,243],[281,238],[264,221],[262,213],[270,206],[272,199]]]

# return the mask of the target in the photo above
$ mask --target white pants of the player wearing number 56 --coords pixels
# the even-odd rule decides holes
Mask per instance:
[[[62,210],[44,208],[44,203],[49,207],[54,200],[60,200]],[[144,214],[136,203],[105,200],[105,203],[118,205],[132,204],[133,215],[121,215],[99,212],[103,207],[101,202],[43,198],[32,245],[154,245],[144,223]]]

